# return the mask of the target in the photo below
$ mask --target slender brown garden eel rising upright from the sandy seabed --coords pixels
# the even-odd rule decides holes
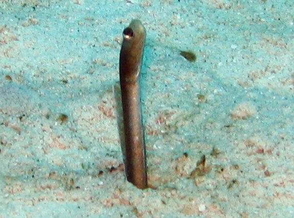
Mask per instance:
[[[139,20],[132,20],[123,31],[119,77],[124,126],[125,174],[138,188],[147,187],[145,143],[140,101],[140,69],[146,31]]]

